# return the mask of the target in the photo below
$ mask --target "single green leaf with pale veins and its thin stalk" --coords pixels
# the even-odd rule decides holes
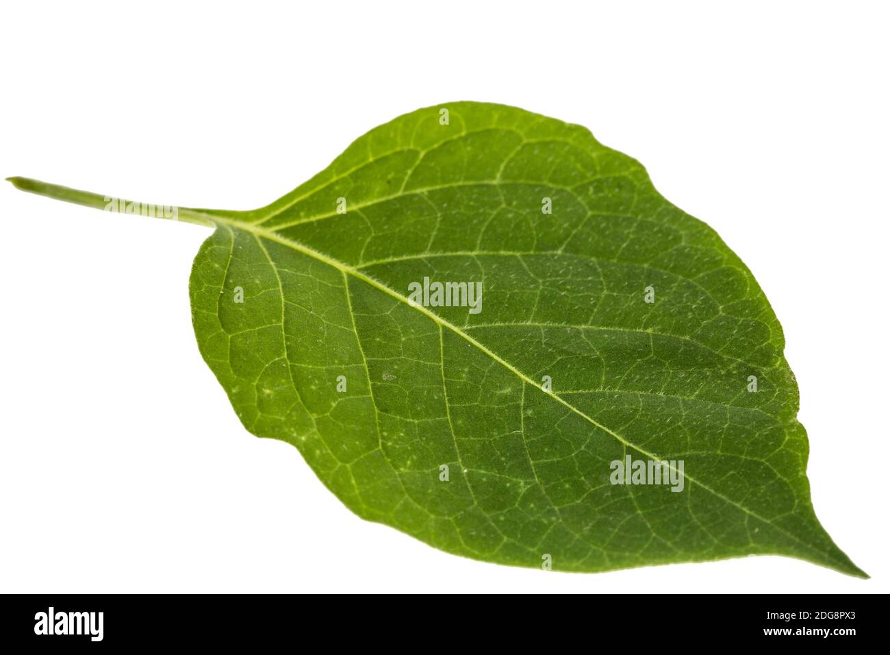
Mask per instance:
[[[813,512],[763,291],[584,127],[453,102],[376,127],[263,209],[177,217],[215,228],[193,323],[241,422],[359,516],[527,567],[774,553],[865,576]],[[465,295],[435,306],[435,282]],[[625,478],[628,458],[646,470]]]

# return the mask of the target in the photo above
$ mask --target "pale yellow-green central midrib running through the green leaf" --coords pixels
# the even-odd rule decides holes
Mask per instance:
[[[181,210],[181,211],[184,211],[184,210]],[[494,352],[493,350],[491,350],[490,348],[485,346],[485,344],[473,339],[472,336],[470,336],[469,334],[467,334],[466,332],[461,330],[459,327],[457,327],[457,325],[450,323],[448,320],[442,318],[440,315],[437,315],[434,312],[431,312],[427,307],[423,307],[422,305],[417,305],[417,303],[410,302],[409,299],[407,299],[401,293],[386,286],[383,282],[379,282],[379,281],[375,280],[373,277],[362,273],[360,270],[353,268],[352,266],[349,266],[348,264],[344,264],[344,262],[340,261],[339,259],[329,257],[328,255],[325,255],[324,253],[322,253],[318,250],[314,250],[314,249],[310,248],[309,246],[304,245],[303,243],[295,242],[290,239],[287,239],[287,237],[283,237],[279,233],[272,232],[271,230],[264,229],[263,227],[261,227],[259,225],[254,225],[254,224],[250,224],[250,223],[242,223],[240,221],[232,220],[230,218],[219,217],[219,216],[210,215],[210,214],[203,214],[202,212],[195,211],[194,209],[190,209],[189,211],[191,213],[194,213],[201,217],[206,217],[208,220],[214,221],[214,223],[223,223],[223,224],[229,225],[235,229],[244,230],[245,232],[252,233],[252,234],[254,234],[255,237],[263,237],[263,239],[266,239],[268,241],[279,243],[280,245],[290,248],[291,250],[296,250],[297,252],[303,253],[303,255],[314,258],[324,264],[327,264],[328,266],[332,266],[332,267],[336,268],[336,270],[340,271],[343,274],[352,275],[352,277],[354,277],[355,279],[367,283],[368,285],[374,287],[377,291],[384,292],[386,295],[390,296],[393,299],[398,300],[402,304],[408,305],[409,307],[413,307],[418,312],[420,312],[421,314],[425,315],[427,318],[432,320],[434,323],[441,325],[441,327],[448,328],[451,332],[454,332],[455,334],[457,334],[457,336],[461,337],[468,343],[472,344],[475,348],[478,348],[479,350],[481,350],[481,352],[485,353],[487,356],[490,356],[491,359],[498,362],[498,364],[501,364],[508,371],[510,371],[511,373],[514,373],[514,375],[516,377],[518,377],[520,380],[526,382],[527,384],[530,384],[532,387],[534,387],[535,389],[538,389],[541,393],[545,394],[546,396],[554,398],[554,400],[556,400],[556,402],[563,405],[570,412],[578,414],[578,416],[580,416],[585,421],[589,422],[595,428],[598,428],[599,430],[603,430],[603,432],[611,435],[611,437],[617,439],[620,443],[624,444],[627,447],[633,448],[637,453],[642,454],[643,456],[645,456],[651,460],[656,460],[656,461],[663,460],[663,458],[660,457],[658,454],[651,453],[651,452],[643,449],[640,446],[636,446],[633,442],[627,440],[627,438],[622,437],[618,432],[611,430],[611,428],[603,425],[603,423],[596,421],[593,417],[587,415],[587,413],[582,412],[581,410],[578,409],[578,407],[576,407],[575,405],[572,405],[570,402],[568,402],[564,398],[560,397],[558,394],[555,394],[553,392],[548,393],[548,392],[544,391],[543,389],[540,388],[540,386],[538,385],[538,382],[532,380],[525,373],[522,373],[522,371],[517,369],[513,364],[510,364],[509,362],[507,362],[506,359],[499,356],[498,353]],[[522,437],[524,439],[525,435],[523,435]],[[673,464],[668,463],[668,467],[672,471],[675,471],[679,474],[679,471],[676,470],[676,468],[674,467]],[[708,485],[705,485],[704,483],[700,482],[699,480],[692,478],[692,476],[686,474],[685,472],[684,472],[684,478],[689,480],[690,482],[692,482],[692,484],[698,485],[705,491],[708,491],[709,493],[716,495],[716,497],[720,498],[725,503],[731,504],[733,507],[740,509],[742,512],[745,512],[746,514],[755,518],[756,520],[763,521],[766,525],[772,526],[776,530],[779,530],[783,535],[789,536],[791,539],[796,541],[797,544],[804,546],[805,548],[812,551],[813,553],[820,553],[823,556],[828,555],[828,553],[823,552],[823,551],[819,550],[818,548],[813,547],[813,545],[811,545],[811,544],[807,544],[805,541],[802,541],[800,538],[798,538],[794,534],[788,532],[784,528],[781,528],[780,526],[775,525],[773,523],[773,521],[760,516],[756,512],[752,512],[744,505],[735,502],[734,500],[732,500],[732,498],[729,498],[726,495],[721,494],[719,491],[716,491],[716,489],[708,487]]]

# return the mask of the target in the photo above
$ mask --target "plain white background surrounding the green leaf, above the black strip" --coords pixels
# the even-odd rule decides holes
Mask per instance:
[[[253,209],[455,100],[636,157],[771,300],[813,504],[872,579],[780,557],[545,573],[362,521],[198,355],[206,228],[3,183],[0,591],[888,591],[886,6],[4,4],[2,176]]]

